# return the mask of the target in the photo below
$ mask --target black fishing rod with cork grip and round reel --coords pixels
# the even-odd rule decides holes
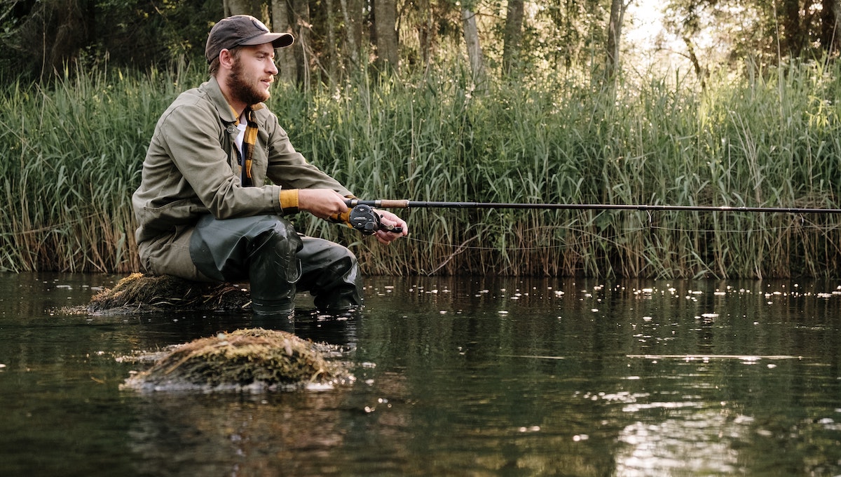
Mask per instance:
[[[547,209],[547,210],[682,210],[699,212],[754,212],[770,214],[841,214],[841,209],[807,207],[732,207],[729,205],[657,205],[657,204],[528,204],[510,202],[439,202],[405,199],[346,199],[351,208],[350,223],[357,231],[371,235],[378,230],[400,233],[400,227],[380,223],[373,207],[380,209]]]

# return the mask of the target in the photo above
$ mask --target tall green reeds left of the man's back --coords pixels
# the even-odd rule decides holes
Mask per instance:
[[[96,71],[51,87],[15,83],[0,97],[9,207],[0,269],[126,271],[138,267],[130,194],[155,118],[178,72]]]

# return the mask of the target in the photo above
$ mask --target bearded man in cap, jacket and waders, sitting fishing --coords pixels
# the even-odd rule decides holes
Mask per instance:
[[[262,103],[278,73],[274,49],[293,41],[248,15],[214,25],[209,81],[181,93],[157,122],[132,197],[135,236],[150,273],[249,280],[255,315],[291,316],[298,289],[321,311],[344,313],[362,304],[356,257],[298,234],[285,217],[346,221],[352,193],[306,162]],[[408,233],[396,215],[378,214],[402,228],[376,232],[381,243]]]

